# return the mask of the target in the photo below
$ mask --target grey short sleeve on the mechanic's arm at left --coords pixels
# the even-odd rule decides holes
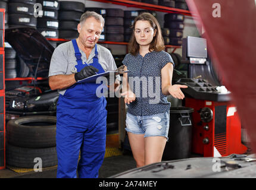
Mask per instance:
[[[51,64],[49,68],[49,77],[53,75],[63,75],[67,72],[68,61],[64,56],[61,46],[55,48],[52,53]]]

